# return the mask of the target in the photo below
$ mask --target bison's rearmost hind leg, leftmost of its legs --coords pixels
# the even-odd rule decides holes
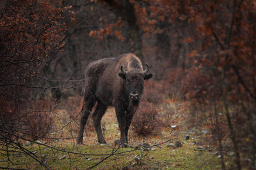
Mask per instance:
[[[82,144],[82,138],[83,138],[83,132],[85,129],[86,121],[92,111],[92,107],[95,105],[95,99],[94,98],[85,98],[84,103],[82,106],[82,117],[80,120],[80,130],[78,134],[78,145]]]

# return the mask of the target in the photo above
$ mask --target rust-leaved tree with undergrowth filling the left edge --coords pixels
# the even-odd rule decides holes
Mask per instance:
[[[21,148],[21,138],[50,130],[54,105],[35,108],[34,99],[48,89],[41,71],[65,46],[65,22],[74,13],[59,0],[7,0],[0,11],[0,145]]]

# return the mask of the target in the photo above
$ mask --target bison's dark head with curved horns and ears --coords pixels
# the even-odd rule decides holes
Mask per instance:
[[[138,102],[142,96],[144,89],[144,80],[150,79],[153,75],[147,74],[149,72],[149,65],[146,64],[146,70],[143,72],[138,72],[137,69],[130,70],[127,72],[121,66],[121,73],[119,73],[119,77],[122,77],[126,81],[126,89],[129,93],[129,98],[132,102]]]

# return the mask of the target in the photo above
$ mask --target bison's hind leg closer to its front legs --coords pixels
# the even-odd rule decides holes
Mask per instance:
[[[105,106],[100,101],[98,101],[97,108],[92,115],[93,123],[95,125],[95,130],[97,132],[98,142],[101,144],[106,143],[106,141],[102,135],[102,129],[101,129],[101,124],[100,124],[100,121],[102,120],[102,116],[105,114],[106,110],[107,110],[107,106]]]

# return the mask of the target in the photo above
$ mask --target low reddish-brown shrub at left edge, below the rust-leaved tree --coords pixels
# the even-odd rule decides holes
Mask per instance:
[[[36,100],[31,104],[30,110],[21,111],[15,102],[1,101],[1,140],[16,140],[18,137],[38,140],[46,137],[53,125],[50,115],[53,110],[53,102],[50,98]],[[29,102],[24,104],[28,105]]]

